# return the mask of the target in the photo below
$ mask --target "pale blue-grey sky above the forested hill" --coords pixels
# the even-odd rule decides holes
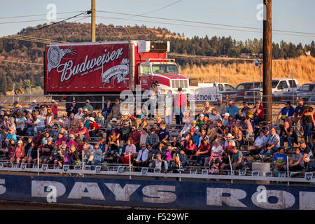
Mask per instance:
[[[245,41],[262,38],[262,21],[257,18],[261,15],[260,3],[262,0],[96,0],[96,23],[146,25],[167,28],[188,38],[216,35]],[[17,34],[25,27],[49,24],[51,20],[48,18],[53,18],[53,15],[59,21],[90,8],[90,0],[0,0],[0,36]],[[273,0],[272,27],[278,31],[274,31],[272,40],[303,45],[315,41],[314,8],[314,0]],[[90,22],[90,18],[82,15],[68,21]]]

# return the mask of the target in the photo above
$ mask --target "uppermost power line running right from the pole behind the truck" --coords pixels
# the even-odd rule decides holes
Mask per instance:
[[[139,16],[139,17],[143,17],[143,18],[151,18],[151,19],[158,19],[158,20],[170,20],[170,21],[176,21],[176,22],[190,22],[190,23],[202,24],[202,25],[216,25],[216,26],[221,26],[221,27],[235,27],[235,28],[242,28],[242,29],[262,30],[261,28],[257,28],[257,27],[243,27],[243,26],[225,25],[225,24],[218,24],[218,23],[211,23],[211,22],[198,22],[198,21],[192,21],[192,20],[178,20],[178,19],[170,19],[170,18],[159,18],[159,17],[153,17],[153,16],[134,15],[134,14],[130,14],[130,13],[117,13],[117,12],[102,11],[102,10],[99,10],[97,12],[99,12],[99,13],[118,14],[118,15],[132,15],[132,16]],[[300,31],[288,31],[288,30],[279,30],[279,29],[274,29],[274,31],[296,33],[296,34],[311,34],[311,35],[315,35],[315,33],[307,33],[307,32],[300,32]]]

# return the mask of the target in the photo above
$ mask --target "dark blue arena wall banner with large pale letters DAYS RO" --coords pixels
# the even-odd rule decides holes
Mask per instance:
[[[0,175],[0,200],[164,209],[315,209],[314,186]]]

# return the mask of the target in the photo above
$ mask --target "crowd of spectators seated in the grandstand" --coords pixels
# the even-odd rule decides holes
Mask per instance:
[[[247,102],[239,109],[231,99],[218,99],[214,106],[206,102],[192,119],[181,109],[176,113],[176,106],[186,105],[181,90],[174,99],[175,109],[165,109],[165,117],[175,115],[177,134],[167,128],[169,118],[148,119],[141,109],[120,111],[119,99],[113,105],[106,102],[102,111],[95,111],[89,99],[83,107],[73,100],[63,114],[55,100],[50,104],[34,100],[28,108],[15,102],[13,108],[1,109],[3,155],[8,165],[25,162],[28,167],[33,163],[74,166],[81,161],[94,167],[106,160],[167,172],[195,162],[220,174],[245,167],[245,158],[253,156],[262,162],[272,158],[274,174],[285,169],[287,162],[291,171],[314,170],[314,113],[302,100],[295,109],[287,102],[273,125],[265,120],[260,100],[253,109]],[[302,127],[302,141],[298,141],[294,125]],[[251,138],[253,147],[247,151],[244,146]],[[295,151],[289,161],[283,154],[285,142]]]

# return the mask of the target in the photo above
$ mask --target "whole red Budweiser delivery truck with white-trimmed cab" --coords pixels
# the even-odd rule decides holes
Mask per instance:
[[[148,90],[153,81],[161,93],[178,87],[188,92],[188,78],[167,58],[169,41],[106,41],[45,45],[45,94],[111,95],[123,90]],[[116,96],[117,97],[117,96]],[[76,97],[84,101],[87,97]],[[89,97],[102,101],[102,97]],[[72,97],[66,97],[69,102]]]

